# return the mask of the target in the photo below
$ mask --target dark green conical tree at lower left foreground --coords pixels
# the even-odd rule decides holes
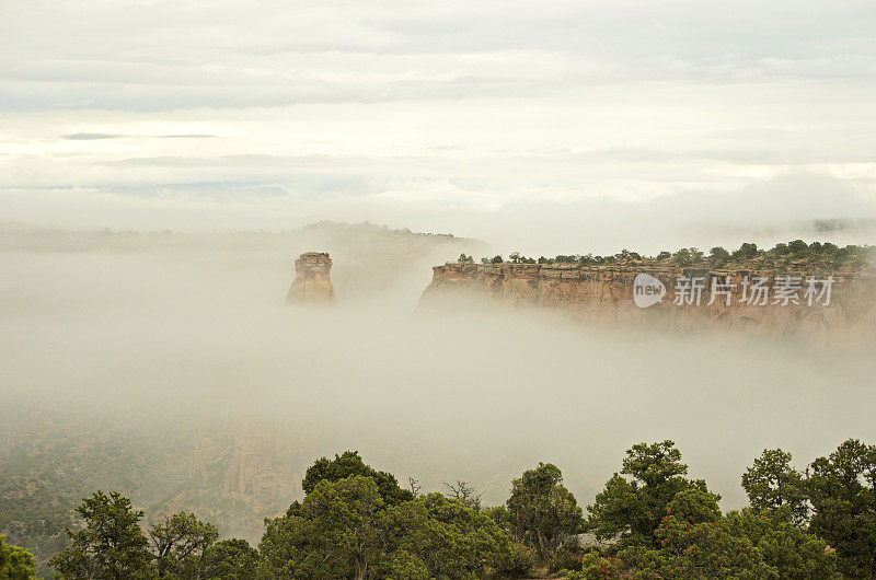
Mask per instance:
[[[76,510],[85,521],[78,532],[67,529],[72,543],[49,565],[60,578],[140,579],[151,578],[152,556],[140,531],[143,512],[117,491],[108,496],[97,490],[83,498]]]

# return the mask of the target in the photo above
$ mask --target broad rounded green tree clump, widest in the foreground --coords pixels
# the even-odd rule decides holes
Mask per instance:
[[[371,477],[324,479],[267,522],[261,576],[470,578],[519,566],[486,513],[440,494],[385,506]]]

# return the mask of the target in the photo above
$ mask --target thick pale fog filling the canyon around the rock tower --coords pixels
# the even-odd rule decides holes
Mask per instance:
[[[393,262],[387,242],[307,233],[111,235],[72,250],[57,232],[38,247],[10,240],[0,252],[7,446],[27,446],[21,439],[46,418],[95,433],[126,426],[146,448],[172,441],[182,465],[142,479],[187,469],[198,425],[247,417],[292,426],[299,473],[357,449],[424,490],[470,480],[487,503],[544,461],[587,504],[625,449],[672,439],[730,509],[745,504],[739,477],[764,448],[802,467],[845,438],[876,438],[866,355],[523,311],[416,311],[429,265],[475,242],[429,240]],[[284,304],[290,259],[323,250],[312,243],[333,246],[335,308]],[[383,258],[362,257],[371,251]]]

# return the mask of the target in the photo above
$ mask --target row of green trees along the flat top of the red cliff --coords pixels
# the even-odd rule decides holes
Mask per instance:
[[[473,264],[474,257],[460,254],[458,262]],[[500,255],[492,258],[481,258],[481,264],[502,264],[506,260]],[[770,250],[761,250],[753,243],[744,243],[738,250],[734,251],[715,246],[708,251],[708,254],[695,247],[682,247],[676,252],[664,251],[656,256],[643,256],[636,252],[622,250],[612,256],[595,256],[592,254],[572,254],[566,256],[561,254],[552,258],[544,256],[532,258],[523,256],[519,252],[511,252],[507,262],[514,264],[577,264],[579,266],[657,264],[678,267],[702,266],[715,269],[805,267],[810,270],[863,270],[874,268],[876,246],[838,246],[830,242],[807,244],[803,240],[794,240],[788,243],[776,244]]]

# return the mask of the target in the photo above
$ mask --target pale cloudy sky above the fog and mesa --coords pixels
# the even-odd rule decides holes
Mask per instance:
[[[872,0],[9,0],[0,221],[550,255],[876,218],[874,30]]]

